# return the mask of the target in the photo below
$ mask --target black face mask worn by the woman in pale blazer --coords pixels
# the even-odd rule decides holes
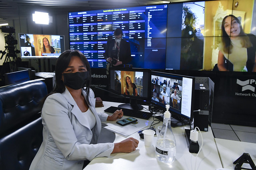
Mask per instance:
[[[89,72],[63,73],[64,84],[69,88],[78,90],[89,81]]]

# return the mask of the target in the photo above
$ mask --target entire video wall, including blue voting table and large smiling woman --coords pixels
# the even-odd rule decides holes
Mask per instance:
[[[70,48],[105,68],[104,47],[120,27],[133,67],[256,71],[256,1],[212,0],[69,13]]]

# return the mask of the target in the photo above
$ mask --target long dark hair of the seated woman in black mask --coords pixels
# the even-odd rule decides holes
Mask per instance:
[[[60,57],[58,58],[58,60],[56,61],[56,67],[55,67],[55,85],[54,88],[52,89],[52,92],[50,92],[50,94],[48,94],[43,100],[42,100],[42,105],[44,104],[44,101],[46,100],[46,98],[48,96],[50,96],[51,94],[54,93],[63,93],[66,88],[64,85],[64,82],[61,80],[62,79],[62,73],[66,70],[66,68],[68,68],[68,64],[70,63],[70,59],[73,56],[77,56],[81,59],[81,61],[84,63],[84,66],[86,67],[87,71],[89,72],[89,77],[90,80],[86,82],[85,86],[86,86],[86,100],[88,101],[88,104],[91,106],[90,102],[89,102],[89,92],[90,92],[90,84],[91,84],[91,68],[90,68],[90,64],[88,62],[88,60],[86,59],[86,57],[78,50],[66,50],[63,53],[61,53]]]

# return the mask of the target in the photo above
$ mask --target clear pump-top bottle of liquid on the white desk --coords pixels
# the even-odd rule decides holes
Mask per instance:
[[[156,158],[161,162],[171,163],[176,156],[176,141],[171,129],[170,105],[166,105],[164,123],[156,141]]]

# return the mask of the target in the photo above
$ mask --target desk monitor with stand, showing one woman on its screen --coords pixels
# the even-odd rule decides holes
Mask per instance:
[[[150,70],[142,68],[112,67],[109,71],[109,91],[130,98],[130,104],[118,107],[141,110],[138,101],[148,101]]]

